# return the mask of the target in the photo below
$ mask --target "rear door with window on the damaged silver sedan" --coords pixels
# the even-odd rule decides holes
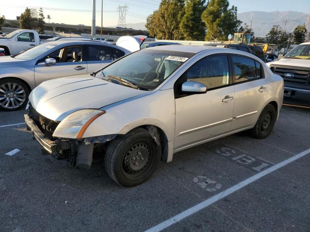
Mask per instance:
[[[231,54],[235,91],[232,130],[256,123],[267,100],[267,82],[263,66],[255,59]]]

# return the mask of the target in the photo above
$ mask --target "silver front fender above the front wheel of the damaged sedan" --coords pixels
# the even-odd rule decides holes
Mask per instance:
[[[175,107],[173,89],[155,92],[103,107],[107,113],[87,128],[85,138],[108,134],[126,134],[134,128],[154,125],[174,141]]]

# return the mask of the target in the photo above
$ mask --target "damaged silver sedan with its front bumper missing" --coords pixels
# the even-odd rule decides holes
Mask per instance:
[[[49,154],[90,168],[101,146],[109,176],[132,187],[186,148],[245,130],[266,138],[283,79],[249,53],[167,45],[93,75],[46,81],[29,99],[28,130]]]

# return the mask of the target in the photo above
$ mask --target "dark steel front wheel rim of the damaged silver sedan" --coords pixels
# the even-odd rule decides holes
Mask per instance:
[[[136,142],[124,153],[122,160],[123,173],[128,177],[135,177],[144,173],[152,160],[151,150],[145,142]]]

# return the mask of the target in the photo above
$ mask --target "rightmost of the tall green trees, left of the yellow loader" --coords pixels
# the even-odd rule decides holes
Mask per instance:
[[[241,21],[237,18],[237,7],[229,8],[228,0],[209,0],[202,13],[202,21],[207,27],[206,40],[226,36],[238,31]]]

